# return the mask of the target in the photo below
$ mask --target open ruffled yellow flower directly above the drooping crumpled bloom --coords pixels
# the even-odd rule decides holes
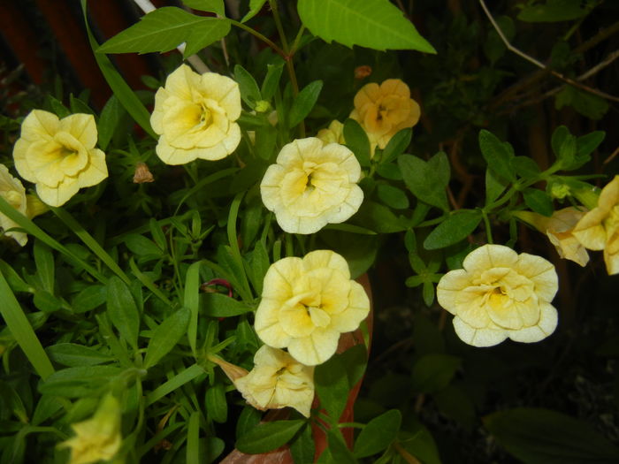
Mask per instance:
[[[328,360],[340,333],[354,331],[368,316],[370,300],[350,279],[346,260],[330,250],[271,264],[256,310],[256,333],[265,344],[288,348],[296,361]]]

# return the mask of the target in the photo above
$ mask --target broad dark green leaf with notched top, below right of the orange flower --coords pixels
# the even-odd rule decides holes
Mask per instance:
[[[422,202],[447,211],[447,194],[450,168],[447,155],[440,151],[425,162],[412,155],[398,157],[398,165],[409,190]]]

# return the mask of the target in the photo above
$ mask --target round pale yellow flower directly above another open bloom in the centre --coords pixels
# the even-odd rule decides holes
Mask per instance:
[[[314,233],[355,214],[363,202],[356,185],[360,178],[352,151],[310,137],[281,149],[276,164],[264,173],[260,193],[284,231]]]

